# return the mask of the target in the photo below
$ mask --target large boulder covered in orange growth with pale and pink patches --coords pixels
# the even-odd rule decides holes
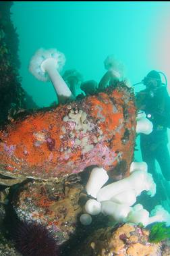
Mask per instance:
[[[1,173],[50,178],[98,165],[123,178],[132,161],[135,134],[134,93],[118,83],[1,130]]]

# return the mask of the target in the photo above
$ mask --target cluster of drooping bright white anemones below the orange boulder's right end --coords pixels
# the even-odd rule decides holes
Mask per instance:
[[[148,226],[153,222],[166,222],[170,226],[170,214],[157,205],[151,213],[136,204],[136,197],[146,190],[150,197],[156,193],[156,184],[152,175],[147,172],[145,162],[132,162],[130,176],[117,182],[103,186],[109,176],[103,168],[94,168],[86,184],[86,192],[94,199],[89,199],[85,205],[86,213],[80,216],[80,222],[89,225],[91,215],[103,213],[109,215],[115,222],[142,223]],[[134,205],[134,206],[132,206]]]

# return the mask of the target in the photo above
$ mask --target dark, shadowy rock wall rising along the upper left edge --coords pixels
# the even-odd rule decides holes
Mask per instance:
[[[13,2],[0,3],[0,127],[13,121],[16,113],[38,108],[32,97],[24,91],[18,72],[18,34],[11,22]]]

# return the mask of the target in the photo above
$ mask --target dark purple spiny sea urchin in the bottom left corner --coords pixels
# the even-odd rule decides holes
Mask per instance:
[[[57,256],[57,241],[49,230],[36,222],[20,222],[13,234],[16,249],[23,256]]]

